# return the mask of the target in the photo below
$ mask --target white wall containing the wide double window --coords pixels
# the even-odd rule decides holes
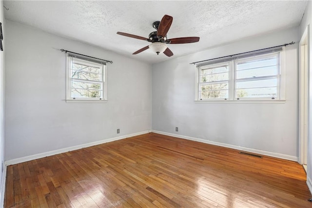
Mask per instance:
[[[286,47],[285,104],[195,104],[195,65],[189,63],[298,40],[295,27],[154,64],[152,129],[296,158],[297,43]]]

